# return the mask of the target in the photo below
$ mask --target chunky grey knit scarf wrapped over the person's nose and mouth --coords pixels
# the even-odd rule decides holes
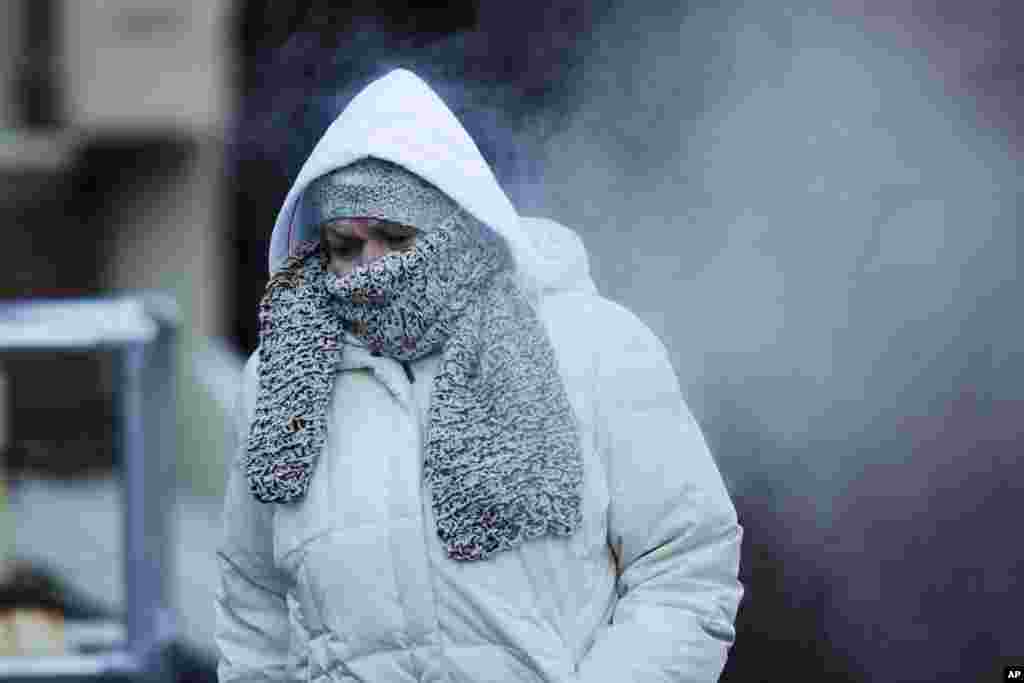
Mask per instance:
[[[398,361],[439,351],[423,472],[449,557],[479,560],[573,533],[583,458],[554,349],[507,246],[452,206],[410,250],[338,276],[319,244],[300,243],[270,280],[246,470],[263,503],[305,496],[327,440],[345,331]]]

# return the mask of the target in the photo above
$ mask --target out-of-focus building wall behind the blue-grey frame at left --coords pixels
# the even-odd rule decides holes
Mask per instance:
[[[172,292],[184,318],[179,470],[211,494],[225,416],[194,357],[229,317],[230,4],[0,2],[0,298]],[[7,368],[9,468],[111,464],[105,360],[25,356]]]

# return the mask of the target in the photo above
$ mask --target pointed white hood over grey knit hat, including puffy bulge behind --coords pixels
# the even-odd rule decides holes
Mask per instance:
[[[532,295],[593,289],[580,238],[555,221],[520,217],[452,111],[404,69],[390,72],[353,97],[313,147],[274,221],[271,275],[296,242],[315,239],[311,223],[303,219],[301,200],[309,183],[366,157],[416,173],[493,228],[508,244],[520,280]]]

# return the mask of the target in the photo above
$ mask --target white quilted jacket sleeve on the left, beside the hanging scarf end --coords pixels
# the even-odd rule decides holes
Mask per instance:
[[[236,410],[234,457],[224,494],[223,531],[217,550],[220,585],[214,639],[217,680],[294,680],[289,661],[291,628],[287,583],[274,568],[272,509],[249,493],[242,465],[256,388],[256,354],[246,364]]]

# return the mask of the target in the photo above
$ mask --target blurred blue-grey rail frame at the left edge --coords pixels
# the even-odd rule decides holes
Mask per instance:
[[[169,607],[175,480],[175,340],[180,316],[163,293],[0,302],[0,353],[98,351],[117,357],[115,462],[123,488],[125,640],[96,654],[0,657],[4,681],[169,681],[176,636]]]

